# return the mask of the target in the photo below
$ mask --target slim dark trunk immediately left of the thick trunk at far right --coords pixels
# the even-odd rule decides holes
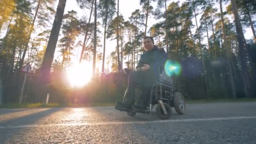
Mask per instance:
[[[223,39],[224,39],[224,47],[225,47],[225,51],[226,51],[227,67],[229,70],[229,83],[230,83],[231,90],[232,90],[232,97],[237,98],[237,95],[235,93],[235,84],[234,84],[232,65],[230,63],[229,53],[231,53],[231,52],[229,51],[229,47],[227,45],[226,29],[225,29],[223,11],[222,11],[222,0],[219,0],[219,4],[220,4],[220,10],[221,10],[221,27],[222,27],[222,31],[223,31]]]

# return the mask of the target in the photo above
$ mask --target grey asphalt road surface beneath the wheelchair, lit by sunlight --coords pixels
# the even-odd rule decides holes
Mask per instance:
[[[187,104],[169,120],[114,107],[0,109],[1,144],[256,144],[256,102]]]

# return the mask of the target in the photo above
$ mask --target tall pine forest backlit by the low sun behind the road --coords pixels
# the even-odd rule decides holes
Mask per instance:
[[[65,12],[67,1],[77,9]],[[22,103],[48,93],[61,104],[122,100],[145,36],[180,64],[172,77],[186,99],[256,97],[255,0],[135,0],[128,19],[120,3],[0,0],[0,104],[18,103],[21,91]]]

